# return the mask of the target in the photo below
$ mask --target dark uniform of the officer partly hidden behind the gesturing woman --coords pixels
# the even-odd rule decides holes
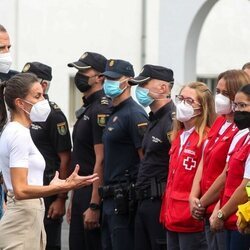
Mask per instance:
[[[45,95],[45,98],[48,99],[48,96]],[[49,104],[51,113],[46,122],[35,122],[30,127],[31,137],[46,162],[44,185],[49,185],[55,172],[59,170],[60,158],[58,153],[71,150],[67,119],[57,104],[50,101]],[[46,216],[50,205],[56,198],[57,195],[44,198],[44,227],[47,234],[47,248],[49,249],[61,249],[61,226],[63,218],[52,219]]]

